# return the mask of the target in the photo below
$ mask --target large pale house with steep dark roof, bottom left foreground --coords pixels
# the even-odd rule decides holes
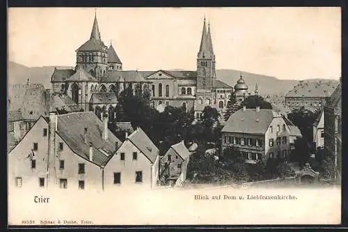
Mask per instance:
[[[104,190],[104,167],[121,141],[93,112],[40,116],[8,154],[9,187]]]

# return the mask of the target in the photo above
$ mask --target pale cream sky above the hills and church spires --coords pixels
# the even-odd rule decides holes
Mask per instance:
[[[196,70],[203,18],[216,69],[278,79],[339,79],[340,8],[9,8],[8,59],[74,66],[97,14],[123,70]]]

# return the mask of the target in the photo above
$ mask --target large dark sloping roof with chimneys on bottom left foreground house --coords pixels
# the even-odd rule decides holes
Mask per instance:
[[[80,157],[89,160],[89,143],[93,144],[93,163],[104,167],[122,144],[109,129],[108,139],[102,138],[103,122],[93,112],[74,112],[58,115],[58,134]],[[84,143],[84,128],[88,128],[87,143]],[[100,149],[109,155],[104,155]]]

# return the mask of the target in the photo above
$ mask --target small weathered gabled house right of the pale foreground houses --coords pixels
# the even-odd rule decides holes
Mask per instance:
[[[190,152],[184,141],[172,145],[164,157],[161,158],[161,173],[166,171],[167,178],[177,177],[182,173],[183,167],[189,163]],[[184,168],[186,170],[186,168]],[[186,176],[186,173],[184,173]]]

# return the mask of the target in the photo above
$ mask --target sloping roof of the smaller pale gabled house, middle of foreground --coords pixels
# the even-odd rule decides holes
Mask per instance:
[[[159,155],[159,150],[140,127],[136,128],[127,140],[131,141],[152,163],[155,162]]]

